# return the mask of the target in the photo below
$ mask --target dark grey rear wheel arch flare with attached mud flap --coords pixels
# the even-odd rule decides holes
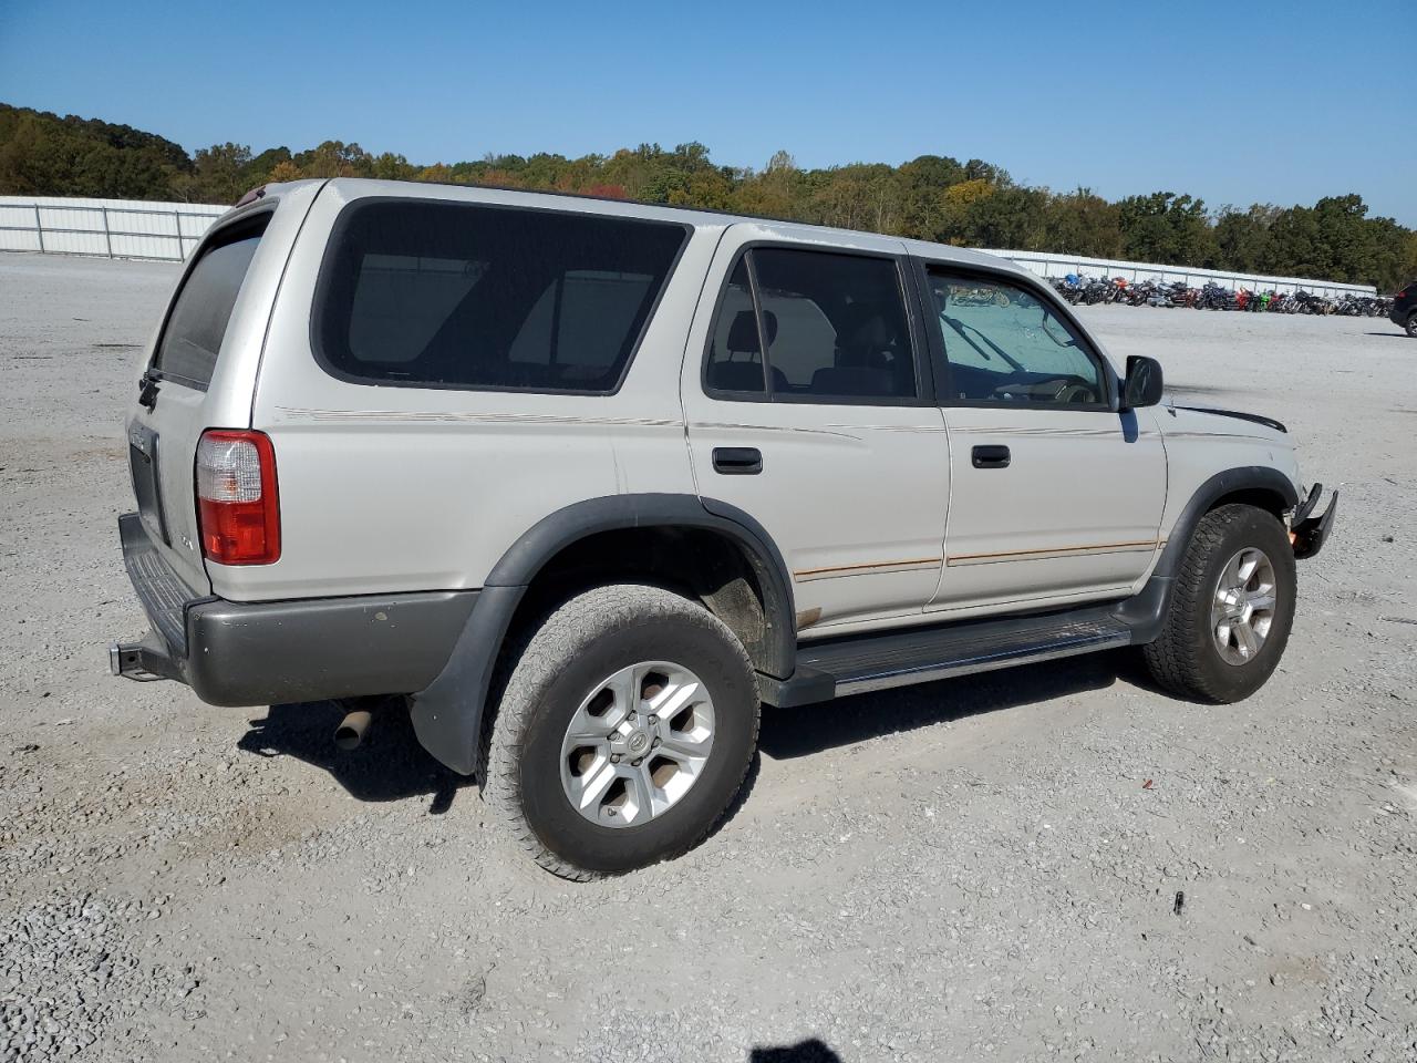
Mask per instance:
[[[775,679],[791,676],[796,662],[792,584],[782,554],[757,520],[735,506],[696,495],[587,499],[533,524],[487,574],[448,663],[428,687],[412,696],[414,731],[424,748],[453,771],[473,774],[492,675],[512,618],[537,573],[587,536],[649,527],[717,532],[743,550],[764,600],[767,639],[758,669]]]

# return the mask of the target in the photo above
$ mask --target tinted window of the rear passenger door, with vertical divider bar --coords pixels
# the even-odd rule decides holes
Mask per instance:
[[[896,262],[778,247],[748,251],[718,306],[704,384],[728,398],[914,400],[915,356]]]

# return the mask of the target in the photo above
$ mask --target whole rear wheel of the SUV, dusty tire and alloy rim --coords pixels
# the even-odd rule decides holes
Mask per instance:
[[[757,676],[723,621],[656,587],[598,587],[521,651],[483,797],[547,870],[615,874],[697,845],[757,737]]]

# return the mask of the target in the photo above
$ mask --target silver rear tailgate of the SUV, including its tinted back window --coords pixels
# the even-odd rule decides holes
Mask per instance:
[[[149,536],[193,590],[210,590],[197,532],[193,456],[205,428],[245,428],[265,317],[251,310],[272,208],[218,225],[193,254],[157,333],[128,421],[133,495]],[[244,327],[234,322],[245,317]],[[254,320],[259,319],[259,320]],[[232,347],[245,347],[242,370]]]

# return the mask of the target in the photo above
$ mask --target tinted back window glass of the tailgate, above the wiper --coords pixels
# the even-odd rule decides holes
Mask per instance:
[[[231,310],[269,221],[266,213],[249,224],[234,225],[201,249],[167,315],[153,357],[154,370],[197,388],[211,383]]]

